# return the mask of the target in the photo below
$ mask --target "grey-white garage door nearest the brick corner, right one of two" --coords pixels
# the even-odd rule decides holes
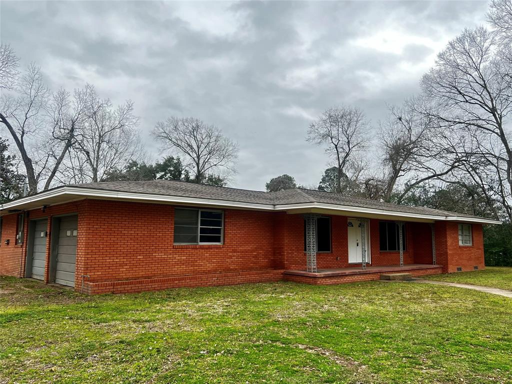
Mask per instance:
[[[75,286],[76,239],[78,236],[78,217],[67,216],[60,219],[59,244],[55,283]]]

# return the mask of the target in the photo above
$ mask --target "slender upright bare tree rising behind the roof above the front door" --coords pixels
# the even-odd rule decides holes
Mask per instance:
[[[343,179],[355,181],[365,164],[360,154],[369,143],[369,124],[357,108],[340,107],[324,111],[309,126],[307,140],[325,146],[337,168],[336,192],[346,192]],[[346,185],[350,183],[345,183]]]

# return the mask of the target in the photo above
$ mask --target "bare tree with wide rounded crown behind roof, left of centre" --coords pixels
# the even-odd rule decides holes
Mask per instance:
[[[238,145],[215,125],[193,117],[170,117],[156,124],[153,136],[184,157],[184,165],[197,183],[206,181],[212,173],[234,172]]]

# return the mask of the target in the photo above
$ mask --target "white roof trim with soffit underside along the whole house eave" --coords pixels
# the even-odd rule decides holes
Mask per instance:
[[[288,213],[300,213],[301,211],[344,211],[354,212],[362,215],[377,215],[377,216],[391,216],[396,218],[410,218],[420,219],[423,221],[459,221],[468,223],[483,223],[483,224],[501,224],[501,221],[473,218],[464,216],[442,216],[432,214],[418,214],[411,212],[401,212],[395,210],[378,209],[378,208],[365,208],[352,205],[329,204],[329,203],[297,203],[297,204],[262,204],[262,203],[247,203],[238,201],[228,201],[219,199],[202,199],[184,196],[167,196],[157,194],[145,194],[135,192],[114,191],[107,189],[94,189],[84,187],[62,186],[51,190],[41,192],[34,196],[27,196],[0,206],[2,213],[5,210],[15,209],[34,209],[43,205],[55,205],[76,201],[85,198],[96,198],[102,200],[124,200],[124,201],[145,201],[154,203],[173,203],[173,204],[193,204],[205,205],[226,208],[241,208],[241,209],[256,209],[265,211],[286,211]],[[334,212],[333,212],[334,213]]]

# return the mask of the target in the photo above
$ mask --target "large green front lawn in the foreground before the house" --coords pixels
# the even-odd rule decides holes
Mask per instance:
[[[512,381],[512,300],[417,283],[83,296],[0,280],[2,383]]]

